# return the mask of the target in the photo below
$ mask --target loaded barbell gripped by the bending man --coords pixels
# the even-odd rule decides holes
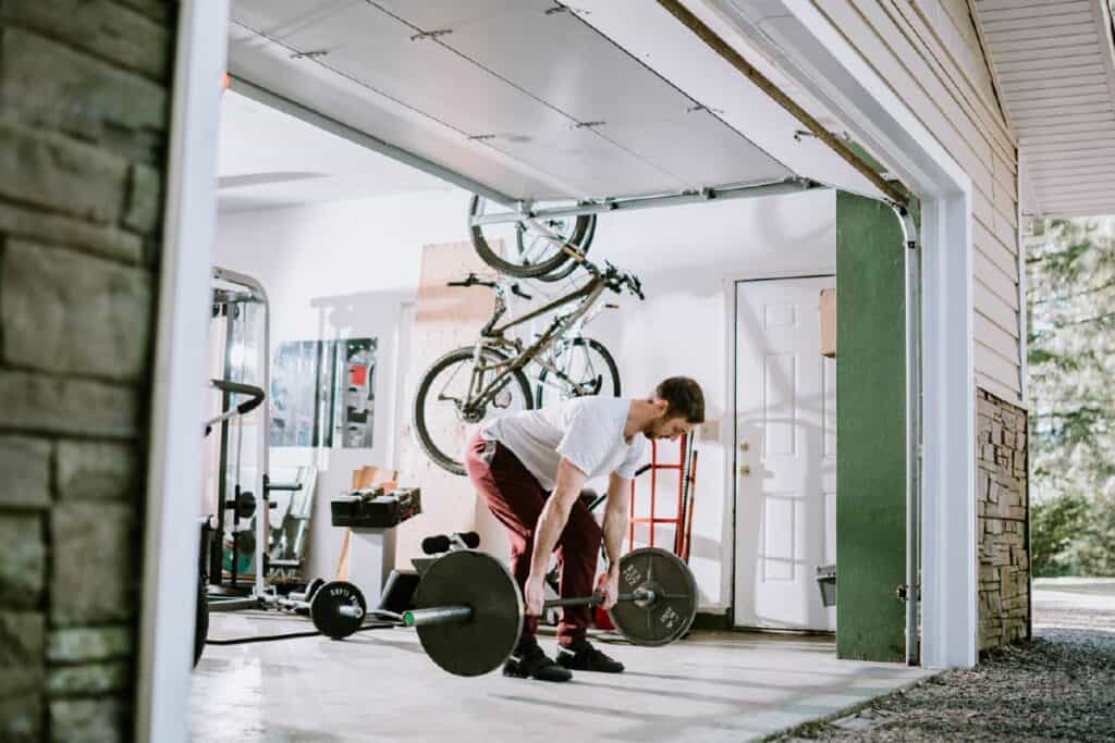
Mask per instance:
[[[636,645],[666,645],[683,636],[697,615],[697,584],[689,567],[663,549],[643,547],[620,560],[620,593],[608,614]],[[600,596],[559,598],[545,608],[595,606]],[[454,551],[423,574],[415,608],[401,615],[434,663],[458,676],[501,666],[523,632],[523,596],[497,559]],[[375,613],[374,613],[375,614]]]

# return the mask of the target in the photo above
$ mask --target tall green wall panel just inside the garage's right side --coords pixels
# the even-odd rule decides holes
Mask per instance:
[[[902,225],[836,195],[836,652],[904,661],[905,264]]]

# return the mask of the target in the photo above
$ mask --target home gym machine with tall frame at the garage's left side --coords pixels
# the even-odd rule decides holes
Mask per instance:
[[[363,596],[352,584],[314,581],[306,592],[280,595],[266,579],[273,574],[291,578],[300,567],[306,532],[312,508],[314,471],[299,469],[293,482],[272,482],[269,473],[270,411],[265,404],[270,390],[270,321],[263,286],[244,274],[213,268],[213,312],[211,325],[212,370],[222,375],[210,381],[220,393],[220,408],[203,424],[204,433],[220,431],[216,444],[215,498],[205,510],[214,516],[202,519],[202,550],[198,570],[203,584],[197,595],[194,637],[194,663],[206,643],[236,644],[285,637],[324,634],[346,637],[360,627],[367,609]],[[246,399],[245,399],[246,398]],[[255,412],[259,409],[259,412]],[[256,429],[255,446],[245,463],[244,429]],[[233,426],[235,423],[235,426]],[[213,452],[210,452],[211,456]],[[249,482],[244,471],[251,470]],[[275,493],[291,493],[278,527],[272,527],[271,510]],[[213,495],[213,493],[211,493]],[[294,498],[294,496],[301,496]],[[215,500],[215,504],[213,502]],[[229,549],[225,542],[229,541]],[[274,548],[280,555],[272,565]],[[227,566],[225,558],[229,557]],[[249,577],[250,576],[250,577]],[[245,579],[246,578],[246,579]],[[211,612],[272,609],[309,615],[316,632],[227,641],[207,639]]]

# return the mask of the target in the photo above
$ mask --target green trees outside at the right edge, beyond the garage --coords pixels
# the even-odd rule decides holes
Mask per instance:
[[[1115,221],[1046,235],[1026,256],[1034,570],[1115,575]]]

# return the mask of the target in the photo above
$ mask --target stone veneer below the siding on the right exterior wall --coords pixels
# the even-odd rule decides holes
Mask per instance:
[[[977,391],[979,648],[1030,636],[1026,411]]]

